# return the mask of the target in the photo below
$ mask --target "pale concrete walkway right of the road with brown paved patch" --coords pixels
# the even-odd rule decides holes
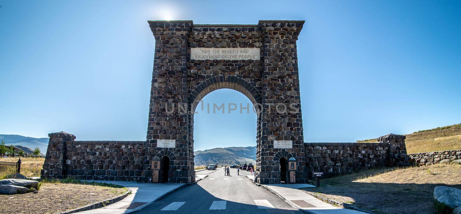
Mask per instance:
[[[250,180],[254,181],[253,175],[246,176]],[[335,207],[329,203],[322,202],[316,197],[301,190],[298,190],[299,188],[304,187],[315,187],[310,184],[261,184],[261,186],[277,193],[294,207],[314,214],[366,214],[352,209]]]

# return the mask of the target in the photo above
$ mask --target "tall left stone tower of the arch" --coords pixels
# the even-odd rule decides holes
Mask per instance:
[[[187,51],[192,21],[148,23],[155,37],[155,54],[146,158],[152,160],[160,151],[165,150],[164,153],[167,154],[166,150],[170,150],[176,156],[174,164],[170,166],[170,182],[190,183],[195,179],[194,153],[189,141],[187,114]],[[174,139],[176,147],[159,148],[158,139]]]

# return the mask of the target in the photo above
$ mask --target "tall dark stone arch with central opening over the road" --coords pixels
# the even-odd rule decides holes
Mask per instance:
[[[151,161],[169,156],[169,182],[194,182],[197,103],[214,90],[234,89],[246,95],[257,112],[255,182],[305,183],[296,53],[304,21],[148,23],[155,55],[146,155]],[[281,178],[287,167],[280,166],[280,159],[296,160],[296,176]]]

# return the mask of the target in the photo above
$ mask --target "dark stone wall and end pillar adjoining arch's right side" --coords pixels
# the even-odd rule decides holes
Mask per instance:
[[[309,177],[312,172],[327,176],[382,166],[409,165],[405,136],[389,134],[379,143],[304,143]]]

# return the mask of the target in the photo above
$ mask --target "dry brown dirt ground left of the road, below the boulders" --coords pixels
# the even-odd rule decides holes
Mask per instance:
[[[56,214],[110,199],[127,190],[125,187],[43,183],[37,194],[0,195],[0,214]]]

